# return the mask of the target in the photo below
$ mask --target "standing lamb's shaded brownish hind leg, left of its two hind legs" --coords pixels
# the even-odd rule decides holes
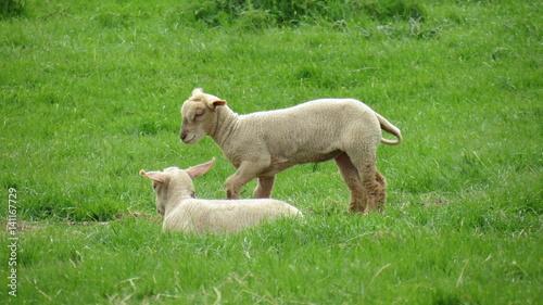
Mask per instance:
[[[358,169],[351,162],[348,154],[342,154],[336,157],[336,165],[340,170],[343,182],[351,191],[351,212],[354,213],[365,213],[366,211],[366,194],[364,193],[364,188],[362,186],[361,176]]]

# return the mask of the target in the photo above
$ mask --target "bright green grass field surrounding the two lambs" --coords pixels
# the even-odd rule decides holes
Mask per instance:
[[[8,2],[2,304],[541,304],[541,1]],[[362,100],[404,136],[378,151],[386,213],[346,213],[333,163],[307,164],[274,192],[303,221],[161,233],[140,169],[215,156],[210,199],[235,170],[179,141],[195,87],[238,113]]]

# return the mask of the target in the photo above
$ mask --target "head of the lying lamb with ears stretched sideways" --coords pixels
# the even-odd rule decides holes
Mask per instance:
[[[180,200],[194,198],[192,179],[207,173],[214,164],[215,158],[212,158],[207,163],[188,169],[178,167],[168,167],[164,171],[146,171],[141,169],[139,175],[153,181],[153,189],[156,193],[156,211],[164,215],[166,209],[178,204]]]

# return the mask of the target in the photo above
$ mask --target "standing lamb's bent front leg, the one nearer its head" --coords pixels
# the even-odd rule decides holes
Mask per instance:
[[[258,175],[264,171],[269,164],[269,158],[241,162],[238,170],[226,179],[226,196],[228,199],[239,199],[241,188],[249,181],[258,177]]]

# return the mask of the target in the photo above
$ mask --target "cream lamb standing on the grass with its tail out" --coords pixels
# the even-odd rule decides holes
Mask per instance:
[[[227,196],[254,178],[254,198],[269,198],[275,175],[293,165],[333,158],[351,190],[351,211],[382,207],[386,180],[377,170],[379,142],[396,145],[400,129],[364,103],[353,99],[321,99],[293,107],[233,113],[226,101],[198,88],[181,107],[180,139],[193,144],[210,136],[237,168],[225,182]],[[397,140],[382,139],[381,129]]]

